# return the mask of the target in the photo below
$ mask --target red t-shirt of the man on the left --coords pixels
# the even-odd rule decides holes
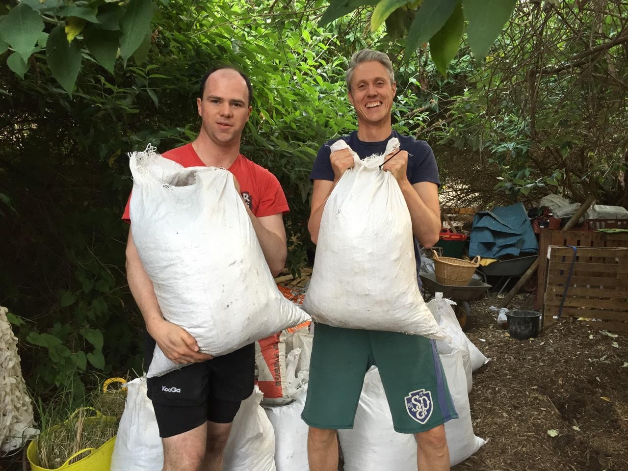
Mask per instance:
[[[184,167],[205,166],[192,144],[185,144],[185,146],[172,149],[161,155]],[[242,198],[251,208],[254,216],[264,217],[288,212],[288,202],[281,185],[279,185],[279,180],[264,167],[239,154],[236,161],[227,170],[236,176],[240,183]],[[130,223],[129,203],[131,203],[131,195],[129,195],[122,215],[122,220]]]

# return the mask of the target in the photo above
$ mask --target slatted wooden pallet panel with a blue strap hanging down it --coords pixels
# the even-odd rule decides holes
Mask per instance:
[[[543,327],[556,322],[562,304],[563,318],[600,319],[598,330],[628,332],[628,248],[581,246],[573,259],[572,247],[549,247]]]

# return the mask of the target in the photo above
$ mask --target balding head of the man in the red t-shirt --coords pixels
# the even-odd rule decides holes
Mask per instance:
[[[202,132],[215,144],[239,143],[242,129],[251,115],[249,90],[244,78],[230,68],[207,77],[203,99],[197,99]]]

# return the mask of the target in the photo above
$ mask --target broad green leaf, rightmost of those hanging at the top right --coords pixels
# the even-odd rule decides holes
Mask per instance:
[[[462,0],[468,43],[475,58],[484,60],[516,3],[517,0]]]

